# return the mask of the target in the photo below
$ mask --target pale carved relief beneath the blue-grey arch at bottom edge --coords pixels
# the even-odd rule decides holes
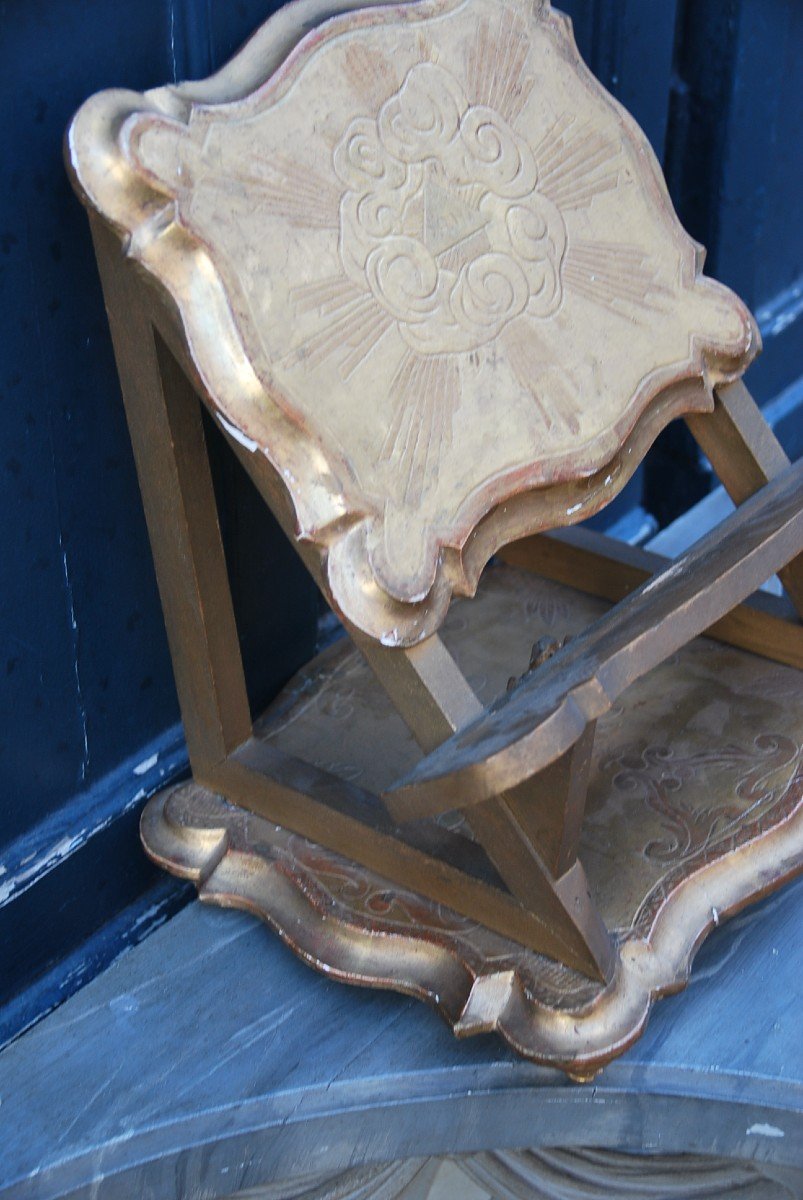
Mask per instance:
[[[232,1200],[796,1200],[803,1174],[767,1163],[613,1150],[415,1158],[238,1192]]]

